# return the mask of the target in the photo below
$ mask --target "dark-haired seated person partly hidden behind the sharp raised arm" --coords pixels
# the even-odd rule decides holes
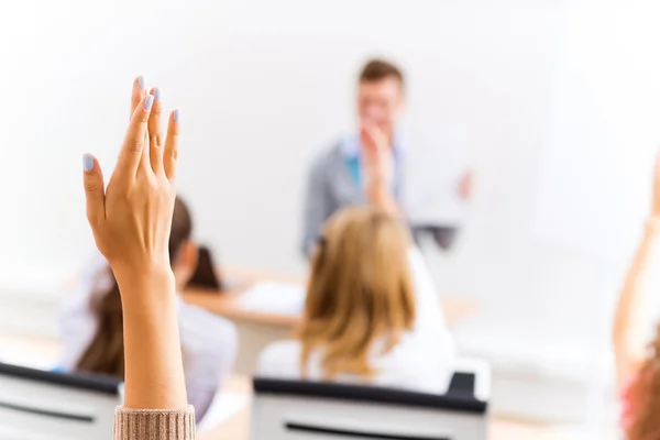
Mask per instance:
[[[180,292],[197,267],[193,218],[177,197],[169,234],[169,263]],[[231,372],[238,350],[234,326],[176,297],[188,399],[200,421],[220,384]],[[117,279],[102,255],[91,258],[76,294],[61,317],[64,371],[124,377],[123,314]]]

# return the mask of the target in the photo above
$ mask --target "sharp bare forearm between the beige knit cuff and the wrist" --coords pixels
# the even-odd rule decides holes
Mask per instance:
[[[125,406],[186,409],[172,271],[116,275],[124,320]]]

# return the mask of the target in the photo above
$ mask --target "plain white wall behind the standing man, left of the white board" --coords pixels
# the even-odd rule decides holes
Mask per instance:
[[[465,345],[496,341],[505,352],[542,351],[568,363],[590,358],[591,305],[604,283],[598,263],[532,234],[563,2],[44,0],[3,8],[6,260],[64,272],[84,260],[92,242],[80,155],[96,153],[109,174],[131,79],[144,74],[182,111],[180,191],[197,215],[197,235],[227,264],[302,272],[306,165],[352,125],[360,63],[386,55],[406,67],[413,130],[462,124],[469,133],[477,178],[468,224],[452,258],[430,257],[443,290],[482,304],[461,331]]]

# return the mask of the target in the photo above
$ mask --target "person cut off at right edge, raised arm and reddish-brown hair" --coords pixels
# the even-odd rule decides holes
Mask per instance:
[[[622,290],[614,352],[628,440],[660,439],[660,327],[651,332],[649,299],[660,292],[660,158],[656,163],[650,217]],[[650,342],[649,342],[650,341]]]

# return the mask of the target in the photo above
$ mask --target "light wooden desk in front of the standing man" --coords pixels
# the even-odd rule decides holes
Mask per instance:
[[[188,289],[184,292],[183,297],[186,302],[202,307],[235,323],[240,349],[234,371],[250,376],[254,373],[254,366],[262,349],[271,342],[290,338],[294,328],[300,321],[300,316],[246,310],[241,307],[241,296],[260,282],[301,284],[305,280],[300,277],[254,271],[224,271],[224,273],[230,279],[241,279],[241,287],[227,292]],[[450,327],[455,326],[476,309],[474,301],[458,297],[441,296],[440,300]]]

